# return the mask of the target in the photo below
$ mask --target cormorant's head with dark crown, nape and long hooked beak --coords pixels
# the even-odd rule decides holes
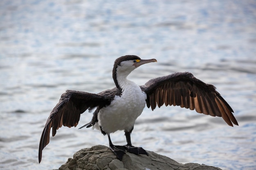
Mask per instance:
[[[157,62],[157,60],[141,60],[141,58],[136,55],[125,55],[117,58],[113,68],[113,79],[117,87],[119,86],[117,77],[122,76],[126,78],[135,68],[150,62]]]

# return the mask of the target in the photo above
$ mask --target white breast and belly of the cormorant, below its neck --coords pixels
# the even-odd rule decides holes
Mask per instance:
[[[139,86],[129,86],[125,88],[121,97],[115,99],[107,107],[100,110],[98,114],[98,124],[95,127],[106,133],[117,130],[129,131],[135,124],[135,120],[141,115],[145,104],[146,94],[141,91]]]

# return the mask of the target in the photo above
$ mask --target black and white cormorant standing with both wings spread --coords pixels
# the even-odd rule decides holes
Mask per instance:
[[[136,55],[125,55],[115,60],[112,78],[115,87],[100,93],[67,90],[61,95],[58,104],[50,113],[40,138],[38,161],[41,162],[42,151],[49,144],[50,130],[52,136],[61,126],[73,127],[79,123],[80,115],[93,109],[92,120],[83,127],[92,127],[108,136],[109,148],[117,159],[122,160],[126,152],[135,155],[148,155],[141,147],[133,146],[130,134],[135,120],[141,115],[145,106],[180,106],[198,113],[222,117],[229,125],[238,126],[231,106],[216,91],[216,87],[195,78],[192,73],[172,73],[167,76],[150,79],[144,85],[137,85],[127,79],[127,76],[139,66],[156,59],[142,60]],[[124,130],[127,144],[117,146],[112,144],[110,134]]]

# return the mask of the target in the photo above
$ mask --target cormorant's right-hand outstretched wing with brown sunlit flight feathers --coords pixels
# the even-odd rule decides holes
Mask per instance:
[[[216,88],[205,84],[191,73],[174,73],[150,79],[140,88],[147,94],[146,103],[152,110],[163,104],[180,106],[195,109],[205,115],[222,117],[229,126],[238,125],[232,114],[234,111]]]

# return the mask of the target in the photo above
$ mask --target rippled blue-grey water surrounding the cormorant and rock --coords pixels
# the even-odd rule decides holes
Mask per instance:
[[[66,89],[98,93],[115,86],[121,55],[155,58],[129,78],[189,71],[214,84],[239,126],[177,106],[145,108],[132,142],[180,163],[256,169],[255,0],[1,0],[0,169],[57,169],[74,152],[108,146],[99,131],[62,127],[38,145],[50,111]],[[123,132],[114,144],[126,144]]]

